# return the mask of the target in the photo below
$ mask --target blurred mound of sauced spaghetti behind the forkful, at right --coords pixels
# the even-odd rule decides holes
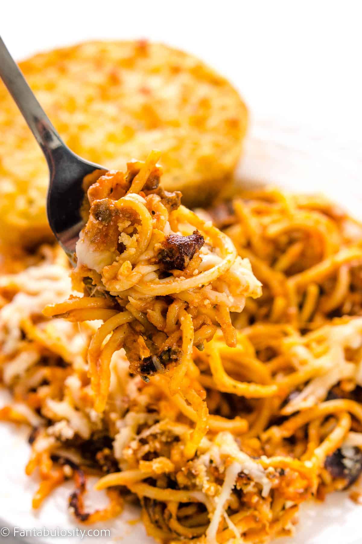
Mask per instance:
[[[238,327],[251,319],[313,329],[362,310],[361,225],[321,196],[275,188],[243,191],[210,213],[263,282]]]

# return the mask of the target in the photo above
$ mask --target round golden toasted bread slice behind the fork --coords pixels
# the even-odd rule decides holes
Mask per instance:
[[[247,111],[225,78],[199,59],[147,41],[94,41],[20,63],[62,138],[80,156],[125,168],[162,151],[165,189],[205,202],[237,163]],[[0,84],[0,237],[48,233],[46,162]]]

